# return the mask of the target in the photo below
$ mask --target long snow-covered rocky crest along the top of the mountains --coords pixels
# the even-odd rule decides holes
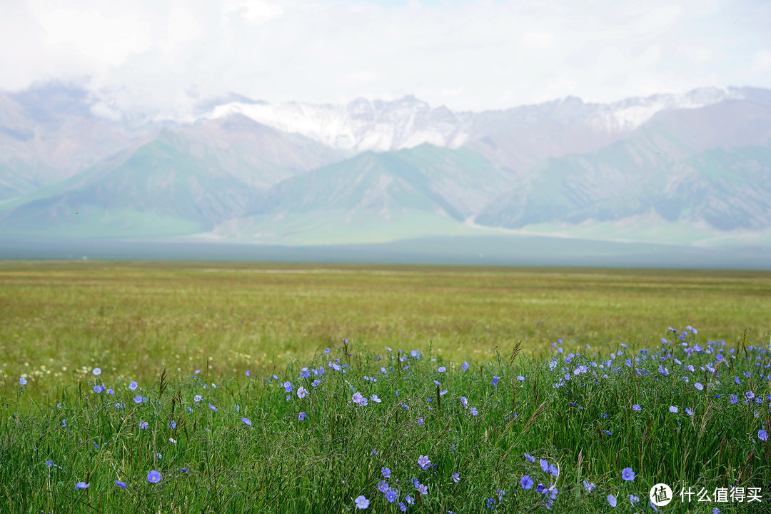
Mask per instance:
[[[432,109],[414,96],[391,102],[359,98],[347,106],[239,100],[214,106],[201,117],[243,114],[258,123],[307,136],[335,149],[386,152],[423,143],[458,148],[478,139],[480,134],[494,132],[502,121],[529,126],[551,119],[571,126],[583,124],[609,134],[628,133],[664,110],[695,109],[726,99],[742,99],[745,92],[738,88],[702,88],[682,95],[654,95],[611,104],[585,103],[571,97],[483,113],[453,113],[445,106]]]

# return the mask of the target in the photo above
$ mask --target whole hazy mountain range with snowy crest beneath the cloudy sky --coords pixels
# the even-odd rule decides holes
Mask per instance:
[[[229,95],[129,119],[74,86],[0,92],[0,240],[307,246],[548,235],[771,244],[771,91],[482,113]],[[464,239],[465,238],[465,239]]]

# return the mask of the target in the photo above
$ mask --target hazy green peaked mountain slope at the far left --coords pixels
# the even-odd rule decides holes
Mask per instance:
[[[101,163],[5,206],[3,233],[56,237],[146,237],[208,230],[243,212],[253,188],[197,159],[186,141],[161,133],[127,156]]]

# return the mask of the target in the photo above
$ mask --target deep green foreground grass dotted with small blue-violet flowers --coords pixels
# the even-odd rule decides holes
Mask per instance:
[[[0,512],[771,512],[768,348],[691,327],[552,347],[21,376],[0,388]]]

